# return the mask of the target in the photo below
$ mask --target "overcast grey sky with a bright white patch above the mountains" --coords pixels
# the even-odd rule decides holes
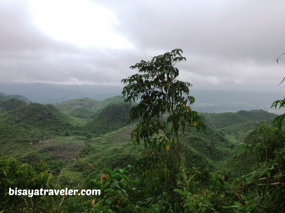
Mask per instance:
[[[285,1],[0,0],[0,82],[121,85],[175,48],[196,89],[283,92]]]

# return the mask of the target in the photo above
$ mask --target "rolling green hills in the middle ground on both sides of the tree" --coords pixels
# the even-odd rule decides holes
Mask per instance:
[[[60,176],[60,185],[72,181],[76,187],[91,188],[90,180],[98,172],[104,174],[103,168],[131,170],[141,153],[146,152],[143,145],[134,146],[130,139],[136,126],[127,125],[132,105],[123,103],[120,96],[104,101],[74,99],[56,105],[24,104],[19,100],[6,99],[11,109],[0,110],[0,152],[22,163],[45,160],[55,177],[66,168]],[[251,132],[256,132],[261,121],[270,124],[276,117],[264,110],[200,116],[206,129],[199,132],[190,129],[186,169],[197,168],[201,177],[219,171],[225,180],[252,171],[251,156],[246,153],[238,156],[239,146],[235,147],[250,141],[255,136]],[[78,156],[78,162],[73,160],[74,156]],[[84,165],[89,164],[95,169],[87,167],[83,172]],[[76,205],[81,202],[72,198]]]

